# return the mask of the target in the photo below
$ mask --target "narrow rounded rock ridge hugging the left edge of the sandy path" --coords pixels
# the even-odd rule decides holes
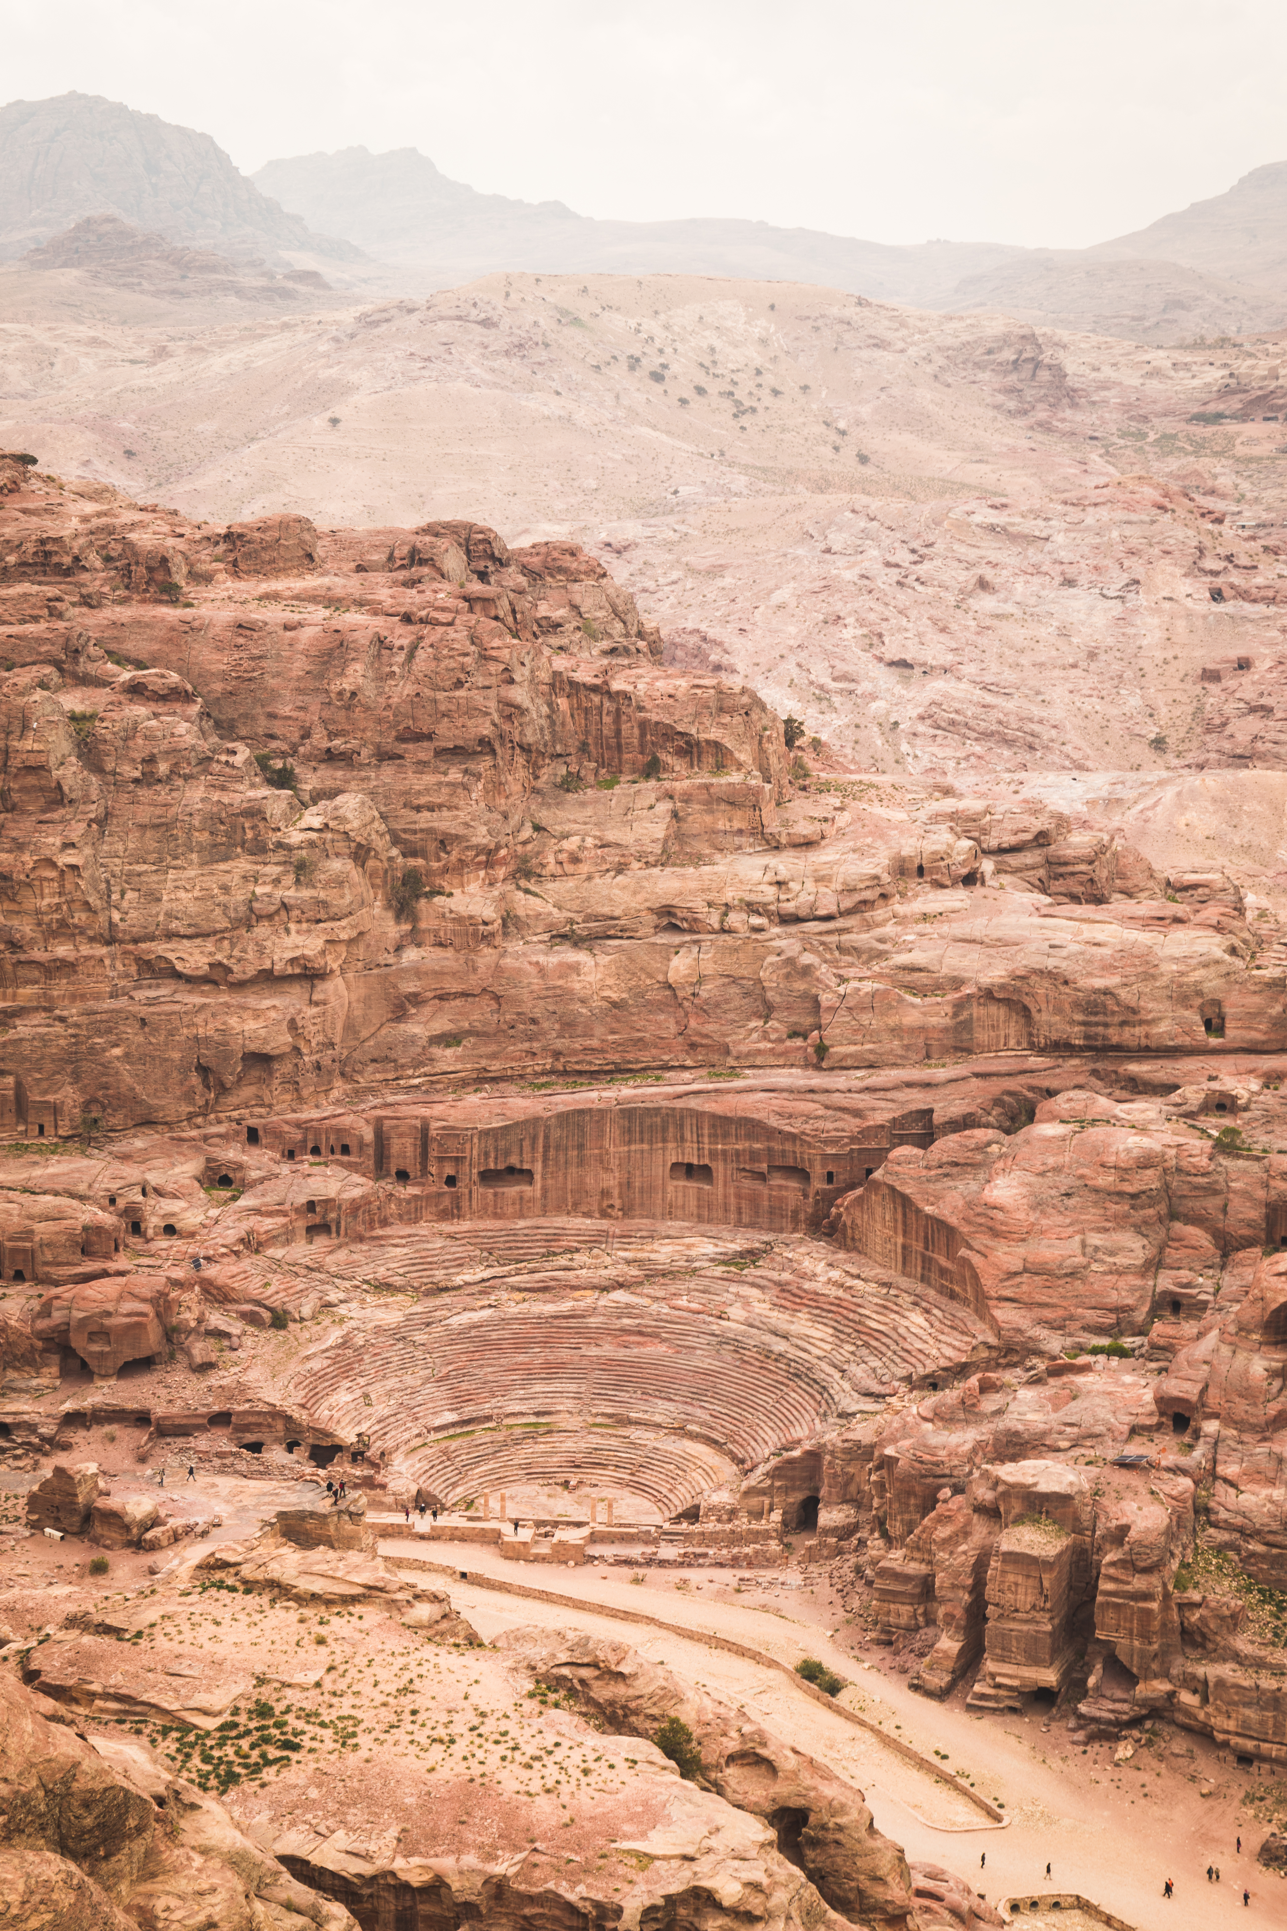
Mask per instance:
[[[911,1883],[903,1854],[872,1825],[863,1792],[743,1713],[648,1663],[629,1643],[569,1632],[507,1630],[498,1645],[546,1684],[567,1686],[583,1709],[623,1730],[656,1738],[670,1719],[687,1724],[700,1751],[700,1780],[726,1802],[762,1817],[834,1910],[864,1923],[905,1925]]]

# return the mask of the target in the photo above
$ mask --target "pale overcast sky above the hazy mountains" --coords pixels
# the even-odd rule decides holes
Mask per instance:
[[[79,89],[247,174],[419,147],[581,214],[1081,247],[1287,160],[1283,0],[0,0],[2,98]]]

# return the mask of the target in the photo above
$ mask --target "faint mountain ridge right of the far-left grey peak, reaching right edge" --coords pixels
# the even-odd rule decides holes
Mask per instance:
[[[1287,322],[1287,162],[1094,249],[891,247],[747,220],[610,222],[480,195],[413,147],[270,160],[255,182],[316,228],[450,288],[498,270],[816,282],[920,309],[1005,309],[1142,340]]]

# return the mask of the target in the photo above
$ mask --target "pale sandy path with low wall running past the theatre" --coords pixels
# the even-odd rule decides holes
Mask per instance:
[[[548,1568],[506,1562],[486,1547],[432,1543],[409,1537],[382,1541],[390,1558],[415,1553],[469,1568],[475,1576],[519,1581],[558,1591],[577,1607],[534,1603],[492,1593],[484,1583],[453,1580],[450,1593],[480,1636],[492,1637],[517,1624],[546,1628],[585,1628],[614,1636],[666,1663],[714,1695],[745,1705],[780,1736],[808,1749],[843,1777],[861,1784],[876,1825],[907,1850],[915,1861],[944,1863],[982,1890],[990,1902],[1028,1890],[1067,1889],[1098,1902],[1140,1931],[1212,1931],[1227,1916],[1246,1927],[1277,1925],[1287,1890],[1281,1881],[1254,1863],[1264,1834],[1254,1823],[1243,1827],[1243,1856],[1233,1852],[1239,1833],[1241,1780],[1210,1753],[1198,1759],[1216,1794],[1198,1798],[1196,1786],[1171,1767],[1160,1767],[1150,1751],[1140,1751],[1146,1767],[1113,1771],[1123,1790],[1108,1782],[1100,1765],[1077,1755],[1065,1767],[1063,1728],[1042,1732],[1034,1719],[982,1719],[951,1703],[930,1703],[874,1668],[845,1655],[816,1626],[797,1622],[789,1610],[743,1609],[714,1601],[695,1589],[633,1587],[617,1572],[594,1568]],[[604,1610],[633,1610],[683,1624],[693,1637],[670,1636],[616,1620]],[[704,1634],[733,1637],[793,1665],[803,1655],[820,1657],[855,1684],[845,1699],[864,1717],[886,1722],[917,1749],[932,1755],[947,1751],[953,1771],[967,1771],[976,1788],[1005,1805],[1009,1829],[980,1817],[955,1792],[897,1757],[880,1738],[830,1717],[776,1670],[710,1649]],[[901,1726],[901,1728],[899,1728]],[[1135,1811],[1135,1815],[1131,1815]],[[986,1867],[980,1869],[980,1856]],[[1052,1881],[1046,1881],[1046,1861]],[[1219,1863],[1221,1885],[1206,1881],[1206,1865]],[[1164,1877],[1175,1879],[1175,1898],[1162,1900]],[[1243,1908],[1243,1883],[1252,1892]]]

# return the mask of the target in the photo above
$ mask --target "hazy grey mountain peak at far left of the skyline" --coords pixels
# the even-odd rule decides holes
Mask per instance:
[[[193,127],[102,95],[10,100],[0,108],[0,257],[25,255],[91,214],[114,214],[172,241],[224,255],[361,261],[270,201],[222,147]]]

